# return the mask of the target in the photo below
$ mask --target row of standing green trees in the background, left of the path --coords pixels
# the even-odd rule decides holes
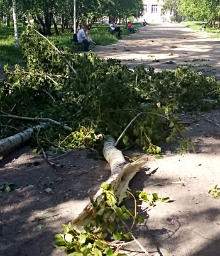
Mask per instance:
[[[73,30],[74,3],[71,0],[17,0],[18,18],[33,18],[41,25],[45,35],[51,35],[51,25],[55,27],[58,35],[57,23],[64,28]],[[0,0],[0,12],[3,16],[12,12],[11,0]],[[143,0],[76,0],[77,26],[89,25],[103,18],[111,17],[114,20],[124,20],[131,16],[141,15]]]

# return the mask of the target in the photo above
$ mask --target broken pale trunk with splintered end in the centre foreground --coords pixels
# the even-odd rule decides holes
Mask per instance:
[[[113,186],[116,196],[119,198],[119,203],[123,201],[125,197],[125,192],[128,189],[129,181],[135,176],[135,174],[140,170],[148,158],[143,157],[133,163],[128,163],[125,161],[121,151],[116,149],[114,146],[116,142],[113,137],[106,136],[106,142],[104,143],[103,154],[111,167],[111,175],[106,180],[106,183]],[[94,196],[94,201],[98,199],[102,200],[102,189],[99,189]],[[79,216],[72,221],[74,230],[79,233],[84,233],[84,226],[91,223],[91,220],[96,217],[96,210],[92,206],[91,202],[85,206],[84,211],[82,211]]]

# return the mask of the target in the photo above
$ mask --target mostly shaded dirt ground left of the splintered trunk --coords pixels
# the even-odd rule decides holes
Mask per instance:
[[[109,166],[78,149],[57,158],[63,167],[54,169],[28,151],[21,148],[0,161],[0,184],[19,186],[0,197],[0,255],[65,255],[53,248],[53,236],[96,194]]]

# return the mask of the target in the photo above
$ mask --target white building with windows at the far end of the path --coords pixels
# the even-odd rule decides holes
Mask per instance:
[[[144,12],[141,21],[144,19],[147,23],[164,23],[171,22],[173,18],[173,10],[163,13],[162,0],[143,0]]]

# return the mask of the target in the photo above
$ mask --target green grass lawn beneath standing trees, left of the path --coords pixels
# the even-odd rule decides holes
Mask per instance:
[[[121,30],[123,33],[121,34],[122,37],[128,36],[128,30],[124,30],[124,24],[119,25],[121,26]],[[138,28],[141,26],[141,23],[133,23],[135,30],[137,31]],[[111,35],[109,33],[109,25],[108,24],[96,24],[93,25],[91,30],[89,31],[89,36],[92,38],[97,45],[107,45],[107,44],[114,44],[118,41],[116,35]],[[18,32],[19,35],[25,30],[21,24],[18,25]],[[67,47],[72,47],[70,44],[70,38],[72,38],[72,33],[65,32],[63,35],[55,36],[55,32],[52,28],[53,36],[50,37],[50,40],[55,42],[55,45],[62,46],[65,45]],[[72,47],[72,50],[77,50],[75,47]],[[78,49],[79,50],[79,49]],[[6,27],[2,25],[0,27],[0,62],[4,64],[9,63],[10,65],[20,64],[24,65],[25,60],[22,57],[22,53],[20,49],[14,48],[14,28],[13,24],[11,27]]]

